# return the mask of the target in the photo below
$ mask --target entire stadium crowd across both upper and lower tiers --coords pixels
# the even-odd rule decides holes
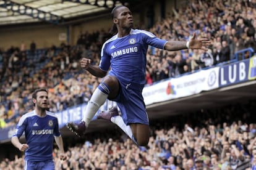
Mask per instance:
[[[256,51],[255,20],[255,1],[190,1],[187,6],[174,10],[173,15],[155,23],[149,31],[163,39],[183,41],[189,40],[195,32],[197,37],[211,39],[212,45],[209,51],[203,54],[201,51],[190,49],[167,52],[149,47],[147,84],[232,62],[234,54],[242,49],[252,47]],[[101,45],[110,36],[107,30],[100,30],[95,33],[81,33],[76,46],[62,43],[59,47],[36,49],[36,42],[33,42],[27,50],[22,46],[0,51],[0,129],[15,125],[21,115],[33,109],[33,103],[30,102],[31,92],[37,87],[49,89],[49,110],[53,112],[87,102],[100,79],[80,70],[79,60],[81,57],[88,57],[98,65]],[[239,60],[247,57],[249,53],[239,56]],[[249,113],[252,113],[252,110]],[[225,114],[231,116],[230,111]],[[211,123],[212,116],[205,121]],[[228,121],[231,121],[230,117]],[[232,148],[234,145],[231,145],[234,140],[239,141],[236,142],[236,147],[241,153],[240,156],[256,162],[256,158],[253,159],[255,154],[252,156],[252,148],[256,145],[255,137],[252,137],[255,131],[250,132],[255,129],[255,124],[249,124],[244,119],[234,123],[213,123],[212,126],[201,122],[199,127],[196,122],[194,121],[193,126],[183,121],[184,127],[177,128],[181,125],[168,123],[160,129],[152,129],[150,145],[143,152],[129,139],[117,140],[120,139],[120,134],[103,139],[98,137],[91,143],[86,142],[85,145],[69,148],[70,159],[61,166],[56,158],[56,167],[93,169],[113,166],[116,169],[159,169],[159,166],[164,169],[191,169],[203,162],[203,166],[207,168],[220,169],[220,164],[236,162],[226,160],[228,153],[232,154],[231,150],[235,150]],[[237,139],[233,139],[234,137]],[[228,141],[229,145],[224,144],[224,141]],[[221,155],[224,147],[227,147],[229,152]],[[0,169],[6,166],[11,169],[14,165],[15,168],[22,167],[22,158],[15,158],[14,161],[4,160]],[[173,168],[174,166],[176,168]]]

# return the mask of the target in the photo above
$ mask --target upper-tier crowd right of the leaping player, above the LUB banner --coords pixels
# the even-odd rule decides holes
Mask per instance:
[[[248,53],[244,56],[234,54],[249,47],[256,50],[256,2],[218,0],[189,1],[187,4],[153,25],[150,31],[160,38],[178,41],[188,41],[195,32],[197,37],[211,39],[212,45],[207,52],[191,49],[168,52],[150,47],[148,84],[234,59],[247,59]]]

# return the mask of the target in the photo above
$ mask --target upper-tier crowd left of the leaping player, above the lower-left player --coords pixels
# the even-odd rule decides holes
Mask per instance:
[[[41,55],[36,56],[39,58],[36,61],[33,58],[24,59],[26,65],[18,60],[22,65],[19,69],[5,67],[6,62],[11,62],[7,59],[12,52],[4,53],[2,68],[4,76],[1,79],[4,86],[0,91],[0,127],[12,126],[19,121],[20,116],[33,110],[31,93],[38,87],[49,89],[49,111],[66,110],[87,102],[100,79],[82,73],[79,60],[81,57],[90,57],[95,64],[98,64],[100,62],[98,51],[100,50],[96,43],[92,43],[89,49],[80,45],[70,47],[61,44],[60,48],[53,46],[46,49]],[[25,52],[15,49],[15,54],[20,56],[20,54],[25,55]]]

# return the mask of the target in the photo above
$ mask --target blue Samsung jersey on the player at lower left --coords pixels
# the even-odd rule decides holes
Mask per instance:
[[[25,132],[28,149],[25,160],[53,160],[54,136],[60,136],[58,118],[49,111],[45,117],[36,115],[35,110],[23,115],[13,136],[20,138]]]

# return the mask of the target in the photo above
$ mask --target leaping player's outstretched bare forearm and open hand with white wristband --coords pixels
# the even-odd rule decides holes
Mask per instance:
[[[207,51],[207,46],[209,46],[211,42],[208,38],[195,39],[195,33],[189,42],[186,41],[168,41],[164,45],[164,49],[167,51],[178,51],[182,49],[202,49],[203,51]]]

